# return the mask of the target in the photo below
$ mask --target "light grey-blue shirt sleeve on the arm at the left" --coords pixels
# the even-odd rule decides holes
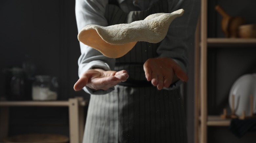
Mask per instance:
[[[104,17],[108,0],[76,0],[75,16],[78,32],[89,24],[108,26]],[[80,42],[81,55],[78,59],[78,76],[92,68],[101,68],[106,71],[114,69],[115,59],[102,55],[99,51]],[[106,94],[114,90],[93,90],[89,87],[83,88],[89,94]]]

